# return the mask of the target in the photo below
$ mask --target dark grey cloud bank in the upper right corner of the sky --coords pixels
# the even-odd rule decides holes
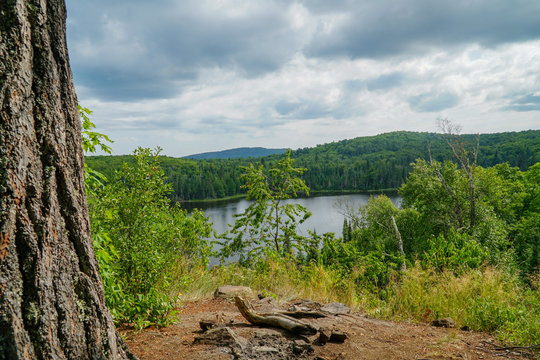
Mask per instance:
[[[330,29],[320,26],[307,47],[311,56],[380,58],[431,47],[492,47],[540,38],[536,0],[340,2],[337,10],[325,11],[342,13],[344,20]]]

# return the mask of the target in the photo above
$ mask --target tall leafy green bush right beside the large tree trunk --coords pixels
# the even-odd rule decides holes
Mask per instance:
[[[137,149],[134,165],[124,164],[89,194],[107,304],[117,322],[139,328],[167,322],[176,301],[168,289],[177,261],[206,266],[211,254],[211,224],[200,211],[188,216],[170,204],[158,154]]]

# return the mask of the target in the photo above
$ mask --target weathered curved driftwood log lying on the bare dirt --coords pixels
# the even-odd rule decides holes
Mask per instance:
[[[234,298],[236,307],[247,321],[255,325],[280,327],[299,335],[315,335],[317,329],[291,316],[280,313],[259,314],[240,296]]]

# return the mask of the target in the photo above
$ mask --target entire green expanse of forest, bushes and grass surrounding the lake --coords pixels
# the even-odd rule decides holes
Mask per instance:
[[[85,152],[110,152],[90,112],[80,111]],[[275,298],[339,301],[394,321],[451,317],[537,348],[538,138],[396,132],[265,158],[195,161],[143,148],[88,157],[107,306],[118,325],[167,326],[182,301],[227,283]],[[314,189],[381,188],[396,188],[401,206],[372,196],[348,209],[341,237],[299,234],[311,213],[283,201]],[[188,214],[174,201],[235,194],[251,205],[222,234],[203,212]],[[209,266],[211,258],[220,265]]]

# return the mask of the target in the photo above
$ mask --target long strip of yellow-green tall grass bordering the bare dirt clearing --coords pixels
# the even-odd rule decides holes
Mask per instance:
[[[244,285],[283,301],[339,301],[370,316],[397,321],[452,317],[458,327],[490,332],[506,343],[540,343],[540,290],[524,288],[517,277],[501,269],[484,267],[455,275],[415,264],[403,275],[392,276],[383,289],[363,286],[356,275],[345,276],[315,263],[300,267],[272,259],[251,268],[230,264],[192,269],[184,274],[190,280],[178,289],[183,299],[193,300],[210,296],[220,285]]]

